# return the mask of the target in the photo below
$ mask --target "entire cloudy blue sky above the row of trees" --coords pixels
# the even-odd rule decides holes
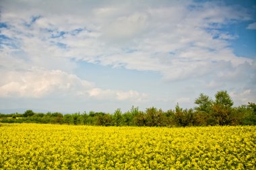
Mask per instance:
[[[256,102],[255,1],[1,1],[0,109]]]

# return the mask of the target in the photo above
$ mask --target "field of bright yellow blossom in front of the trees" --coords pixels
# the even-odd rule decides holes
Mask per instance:
[[[0,124],[0,169],[255,169],[255,126]]]

